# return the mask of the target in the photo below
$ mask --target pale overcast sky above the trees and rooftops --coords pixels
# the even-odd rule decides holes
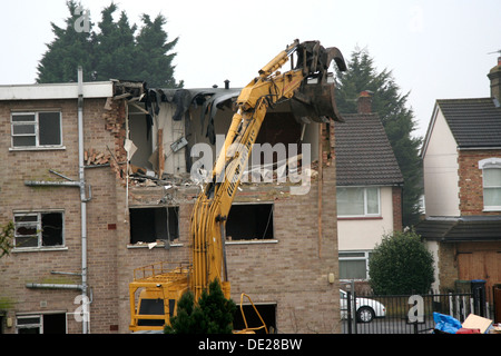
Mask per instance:
[[[100,21],[110,1],[81,0]],[[366,48],[392,70],[424,136],[436,99],[490,96],[487,73],[501,50],[500,0],[117,0],[130,23],[163,13],[185,88],[246,86],[294,39],[320,40],[345,58]],[[63,26],[66,0],[2,1],[0,85],[33,83],[37,63]],[[117,11],[118,17],[118,11]],[[500,55],[501,56],[501,55]],[[287,67],[288,68],[288,67]]]

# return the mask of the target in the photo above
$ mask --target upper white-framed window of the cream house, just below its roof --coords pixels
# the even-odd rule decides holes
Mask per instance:
[[[337,188],[337,216],[380,216],[380,188]]]

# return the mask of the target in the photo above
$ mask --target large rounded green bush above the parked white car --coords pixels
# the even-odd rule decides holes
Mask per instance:
[[[369,259],[375,294],[428,293],[434,281],[433,256],[413,230],[385,235]]]

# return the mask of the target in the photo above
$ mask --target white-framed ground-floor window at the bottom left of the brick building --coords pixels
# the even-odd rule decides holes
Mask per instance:
[[[59,313],[18,316],[16,329],[18,334],[66,334],[66,315]]]

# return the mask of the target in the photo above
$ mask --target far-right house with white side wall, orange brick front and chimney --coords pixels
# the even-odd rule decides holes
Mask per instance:
[[[490,97],[436,100],[422,148],[426,215],[418,233],[442,291],[501,283],[501,58],[488,77]]]

